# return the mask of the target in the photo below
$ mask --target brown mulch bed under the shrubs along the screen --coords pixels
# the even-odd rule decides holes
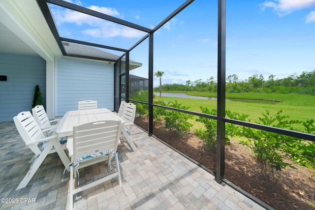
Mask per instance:
[[[148,119],[137,117],[135,123],[147,129]],[[169,132],[162,122],[155,124],[154,135],[172,147],[216,171],[216,151],[192,132],[184,135]],[[225,178],[276,210],[315,210],[315,171],[298,164],[286,167],[276,176],[264,179],[251,150],[231,140],[225,147]],[[289,159],[286,162],[292,163]],[[313,206],[311,205],[313,204]]]

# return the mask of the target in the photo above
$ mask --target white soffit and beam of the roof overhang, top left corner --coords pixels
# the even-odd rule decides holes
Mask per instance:
[[[39,55],[47,61],[62,55],[34,0],[0,1],[1,52]]]

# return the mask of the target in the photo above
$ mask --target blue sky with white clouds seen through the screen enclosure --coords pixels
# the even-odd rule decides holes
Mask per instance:
[[[185,0],[68,0],[153,29]],[[162,83],[217,78],[217,1],[195,0],[154,34]],[[129,49],[145,33],[51,5],[61,36]],[[315,0],[226,0],[226,76],[284,78],[315,70]],[[121,52],[106,50],[122,55]],[[130,52],[148,77],[148,42]],[[158,86],[158,78],[154,80]]]

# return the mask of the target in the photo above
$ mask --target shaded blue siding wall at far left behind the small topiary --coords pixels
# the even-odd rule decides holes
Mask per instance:
[[[38,84],[46,107],[46,61],[40,56],[0,53],[0,122],[12,121],[22,111],[31,111]]]

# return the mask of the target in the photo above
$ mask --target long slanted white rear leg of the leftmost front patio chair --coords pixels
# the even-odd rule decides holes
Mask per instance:
[[[24,188],[24,187],[26,187],[26,185],[28,185],[28,183],[30,182],[30,180],[34,176],[35,172],[37,171],[39,166],[42,164],[42,162],[45,160],[45,158],[46,158],[47,154],[49,153],[49,151],[54,146],[55,141],[58,141],[58,140],[56,139],[56,140],[49,141],[49,143],[47,144],[45,149],[40,153],[38,158],[35,160],[35,162],[33,163],[32,167],[30,168],[28,173],[25,175],[25,177],[23,178],[23,180],[21,181],[19,186],[16,188],[16,190]]]

